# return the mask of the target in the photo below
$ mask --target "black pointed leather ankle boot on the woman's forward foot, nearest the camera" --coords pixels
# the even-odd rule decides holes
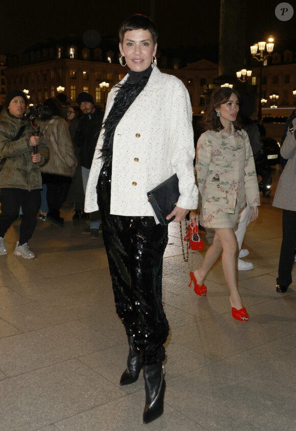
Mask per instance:
[[[165,392],[164,366],[162,361],[157,364],[146,365],[143,368],[145,380],[146,403],[143,422],[149,423],[163,414]]]

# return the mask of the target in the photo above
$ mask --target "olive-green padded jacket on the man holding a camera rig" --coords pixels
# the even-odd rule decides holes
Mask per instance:
[[[21,137],[13,141],[19,129],[26,125]],[[0,172],[0,189],[17,188],[23,190],[42,189],[42,180],[39,166],[48,158],[48,148],[43,137],[40,137],[38,153],[41,160],[32,162],[33,147],[30,146],[30,138],[33,128],[30,122],[24,118],[17,118],[3,109],[0,115],[0,156],[6,158],[6,162]]]

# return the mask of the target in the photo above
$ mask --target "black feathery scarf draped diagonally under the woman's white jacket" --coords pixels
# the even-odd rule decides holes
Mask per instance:
[[[103,163],[110,163],[112,161],[113,139],[115,129],[121,118],[125,115],[126,111],[131,106],[131,104],[139,96],[148,80],[149,76],[145,75],[141,76],[141,79],[133,79],[133,77],[129,76],[126,82],[117,85],[119,89],[114,98],[113,106],[110,109],[108,117],[103,124],[104,143],[101,150],[101,157],[103,159]]]

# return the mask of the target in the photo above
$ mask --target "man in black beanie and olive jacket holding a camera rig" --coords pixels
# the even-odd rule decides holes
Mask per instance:
[[[28,99],[20,90],[8,93],[6,109],[0,115],[0,255],[6,255],[4,235],[22,208],[14,254],[33,259],[28,246],[40,206],[42,180],[39,166],[48,158],[44,139],[34,135],[34,128],[24,117]],[[34,148],[38,146],[38,152]]]

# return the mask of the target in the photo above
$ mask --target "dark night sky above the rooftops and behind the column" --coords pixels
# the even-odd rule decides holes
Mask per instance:
[[[296,2],[289,1],[294,5],[294,16],[282,22],[274,13],[278,0],[247,0],[248,45],[270,34],[275,35],[278,46],[286,39],[296,39]],[[159,49],[218,43],[219,5],[219,0],[155,0]],[[90,29],[102,36],[117,35],[120,22],[132,13],[150,15],[150,0],[5,0],[1,5],[0,54],[18,54],[46,38],[71,33],[82,36]]]

